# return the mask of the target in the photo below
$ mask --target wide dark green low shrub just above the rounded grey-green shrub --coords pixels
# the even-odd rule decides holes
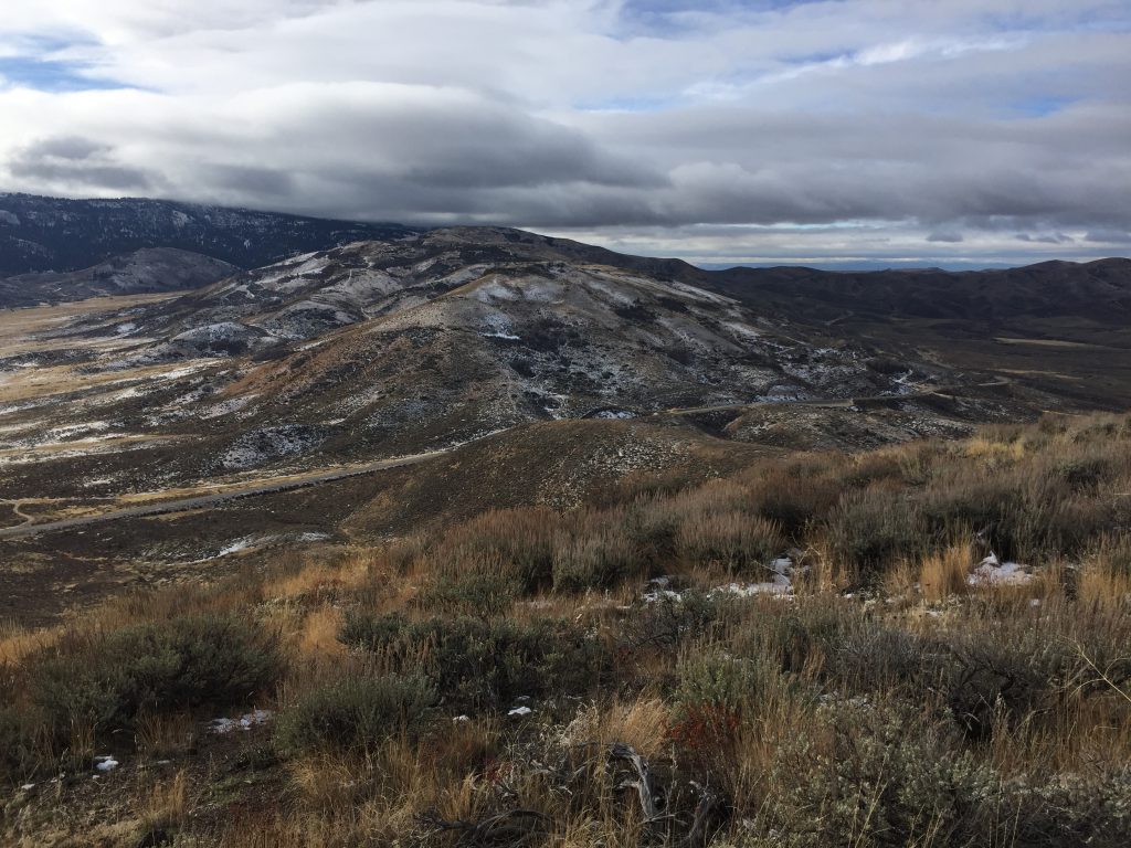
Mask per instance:
[[[518,695],[590,691],[607,667],[602,642],[567,621],[347,616],[339,639],[394,668],[418,669],[456,709],[493,709]]]

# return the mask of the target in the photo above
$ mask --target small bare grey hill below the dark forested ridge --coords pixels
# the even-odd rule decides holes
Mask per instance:
[[[200,288],[240,269],[175,248],[144,248],[79,271],[43,271],[0,279],[0,309],[87,297]]]

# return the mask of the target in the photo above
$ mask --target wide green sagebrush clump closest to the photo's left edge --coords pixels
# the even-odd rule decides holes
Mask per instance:
[[[143,712],[244,703],[280,670],[277,638],[234,615],[198,615],[71,638],[31,666],[32,695],[61,733],[129,727]]]

